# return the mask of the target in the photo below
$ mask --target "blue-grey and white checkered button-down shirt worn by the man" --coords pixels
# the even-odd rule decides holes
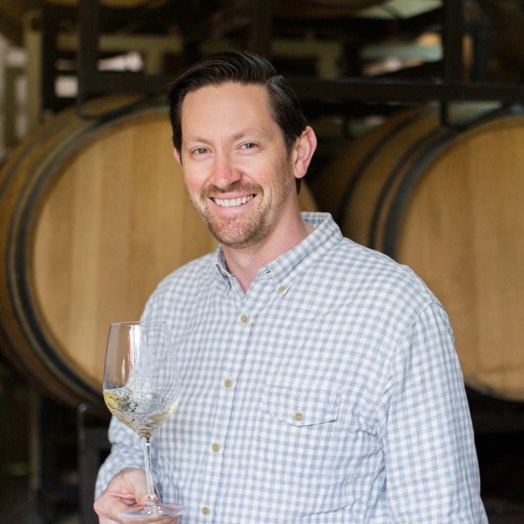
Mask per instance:
[[[343,238],[328,214],[243,293],[222,251],[158,286],[180,406],[154,434],[181,524],[486,524],[447,316],[413,272]],[[97,494],[143,467],[113,419]]]

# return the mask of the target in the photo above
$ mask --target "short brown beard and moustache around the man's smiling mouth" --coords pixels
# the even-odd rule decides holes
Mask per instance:
[[[243,184],[239,181],[233,182],[225,189],[210,185],[204,188],[199,195],[199,202],[191,197],[191,202],[200,215],[205,225],[208,226],[211,234],[224,246],[233,248],[250,247],[263,240],[272,227],[272,211],[278,210],[288,199],[289,192],[294,189],[287,184],[291,170],[286,166],[287,172],[281,173],[281,178],[277,185],[277,194],[274,202],[264,201],[264,188],[259,184]],[[294,179],[294,177],[293,177]],[[239,214],[238,216],[221,217],[210,210],[211,196],[220,196],[226,193],[255,194],[253,200],[260,200],[256,209],[249,213]],[[252,200],[252,202],[253,202]],[[253,202],[255,203],[255,202]]]

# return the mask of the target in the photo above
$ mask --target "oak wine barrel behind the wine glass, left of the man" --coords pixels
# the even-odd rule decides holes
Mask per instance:
[[[68,405],[101,402],[109,324],[216,241],[173,158],[167,104],[106,97],[66,110],[0,171],[0,348]],[[115,112],[115,108],[119,111]],[[301,208],[314,211],[303,185]]]

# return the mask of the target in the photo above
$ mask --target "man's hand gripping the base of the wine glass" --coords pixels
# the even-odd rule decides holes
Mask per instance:
[[[95,500],[94,509],[99,516],[100,524],[131,524],[136,519],[126,519],[120,515],[123,509],[135,504],[144,505],[147,502],[146,474],[137,468],[126,468],[106,487],[104,493]],[[177,524],[177,517],[163,520],[140,519],[141,523],[161,522],[162,524]]]

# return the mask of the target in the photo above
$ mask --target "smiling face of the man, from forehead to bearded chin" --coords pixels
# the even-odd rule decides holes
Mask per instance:
[[[219,242],[248,247],[284,228],[297,205],[294,173],[264,86],[226,83],[188,93],[181,120],[184,180]]]

